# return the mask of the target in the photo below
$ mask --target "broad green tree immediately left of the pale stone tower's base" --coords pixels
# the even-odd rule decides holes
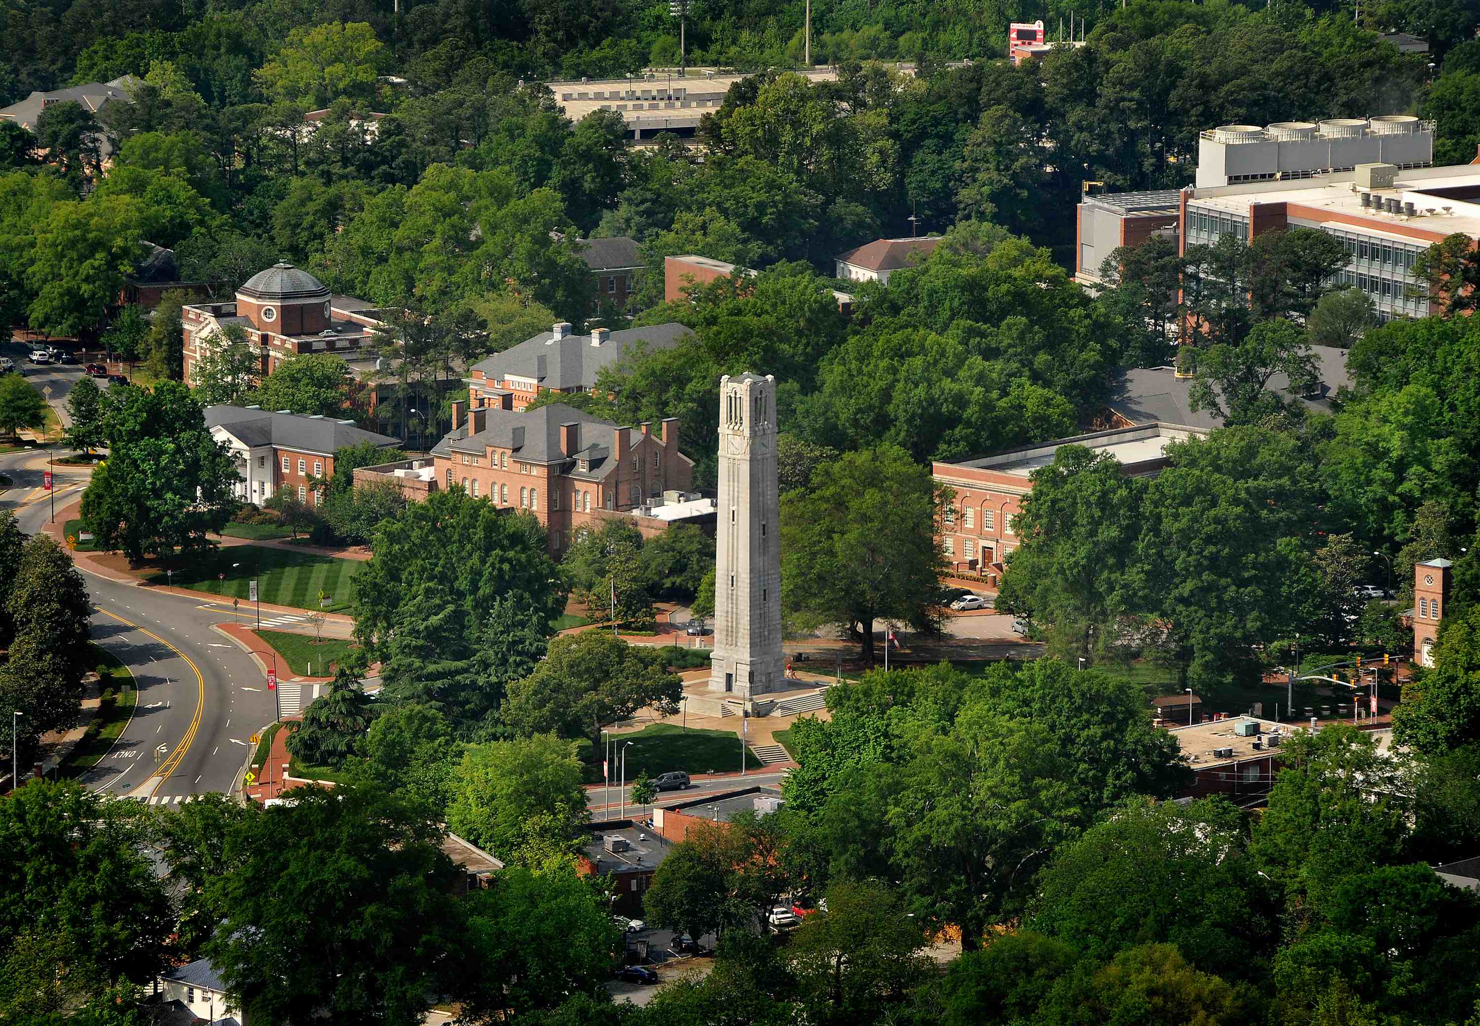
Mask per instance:
[[[638,709],[678,712],[682,681],[665,663],[662,650],[605,631],[559,635],[534,672],[509,684],[505,722],[519,734],[554,731],[599,746],[602,727]]]

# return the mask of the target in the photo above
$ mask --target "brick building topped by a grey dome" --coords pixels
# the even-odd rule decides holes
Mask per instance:
[[[318,278],[292,264],[274,264],[252,275],[237,289],[235,302],[189,304],[181,318],[186,383],[192,383],[195,363],[221,343],[222,329],[231,324],[259,348],[263,376],[299,354],[327,352],[345,360],[345,373],[357,378],[374,366],[361,348],[382,323],[373,305],[330,295]]]

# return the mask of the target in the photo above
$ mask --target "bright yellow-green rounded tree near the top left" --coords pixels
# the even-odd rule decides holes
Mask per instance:
[[[302,25],[256,73],[258,84],[281,101],[327,107],[348,96],[369,101],[389,55],[366,22]]]

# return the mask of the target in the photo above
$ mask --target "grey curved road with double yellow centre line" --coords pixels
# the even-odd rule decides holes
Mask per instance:
[[[24,346],[6,345],[3,351],[27,366]],[[75,367],[28,370],[37,388],[52,386],[53,403],[80,376]],[[40,532],[50,514],[41,490],[46,457],[41,450],[0,456],[0,472],[15,483],[0,494],[0,508],[10,509],[27,533]],[[87,472],[55,471],[61,511],[81,494]],[[96,608],[93,641],[129,668],[139,688],[133,718],[83,783],[151,804],[229,792],[246,761],[247,740],[277,718],[275,694],[266,690],[258,663],[212,629],[232,619],[231,608],[92,573],[83,579]]]

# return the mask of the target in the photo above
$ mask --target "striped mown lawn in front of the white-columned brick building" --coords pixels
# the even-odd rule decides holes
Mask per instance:
[[[323,608],[342,613],[349,608],[349,580],[358,569],[360,564],[354,560],[243,545],[192,560],[189,566],[175,570],[173,583],[176,588],[194,588],[246,603],[247,582],[256,576],[262,582],[259,598],[263,603],[317,610],[318,592],[323,591],[332,597],[330,604]],[[222,573],[226,574],[225,580],[218,576]],[[149,583],[164,582],[163,571],[149,577]]]

